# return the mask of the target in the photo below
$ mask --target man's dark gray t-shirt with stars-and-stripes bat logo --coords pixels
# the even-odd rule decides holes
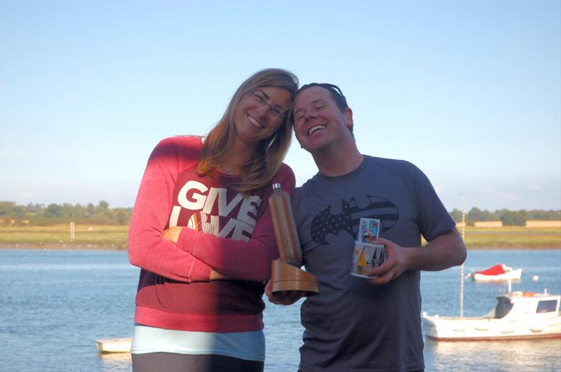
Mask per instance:
[[[403,160],[365,156],[342,177],[309,179],[295,190],[292,209],[304,266],[320,281],[320,294],[302,304],[300,370],[424,368],[419,271],[385,285],[350,275],[360,217],[380,219],[380,236],[402,247],[454,227],[424,173]]]

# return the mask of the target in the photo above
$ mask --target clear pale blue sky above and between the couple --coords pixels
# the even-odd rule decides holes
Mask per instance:
[[[154,146],[268,67],[339,85],[359,151],[448,210],[561,209],[561,1],[1,0],[0,200],[133,207]]]

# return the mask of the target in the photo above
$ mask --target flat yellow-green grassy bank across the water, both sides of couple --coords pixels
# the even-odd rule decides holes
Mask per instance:
[[[461,232],[461,229],[460,229]],[[76,225],[75,241],[70,241],[69,225],[55,226],[1,226],[0,244],[13,248],[24,247],[126,247],[128,226],[122,225]],[[559,228],[525,228],[506,226],[502,228],[466,227],[468,249],[561,249]],[[9,247],[8,247],[9,244]],[[78,247],[79,246],[79,247]]]

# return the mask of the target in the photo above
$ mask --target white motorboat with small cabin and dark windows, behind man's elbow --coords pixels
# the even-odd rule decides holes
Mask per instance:
[[[560,295],[514,291],[482,317],[440,317],[423,312],[427,338],[435,340],[501,340],[561,338]]]

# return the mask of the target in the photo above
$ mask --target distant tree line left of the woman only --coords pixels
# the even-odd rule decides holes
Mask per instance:
[[[100,200],[97,205],[55,203],[16,205],[0,201],[0,224],[55,225],[57,223],[90,223],[95,225],[127,225],[133,208],[110,208]]]

